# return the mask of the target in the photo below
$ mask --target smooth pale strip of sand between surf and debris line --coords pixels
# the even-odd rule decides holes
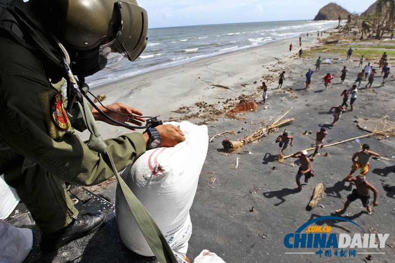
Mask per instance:
[[[298,38],[281,39],[253,48],[130,76],[92,88],[91,92],[96,96],[106,95],[106,101],[102,102],[104,105],[120,102],[142,111],[145,116],[160,115],[160,119],[167,120],[170,117],[178,117],[179,114],[172,111],[182,106],[195,107],[195,103],[201,101],[213,104],[218,102],[215,98],[235,98],[241,93],[256,92],[256,87],[260,86],[261,82],[244,87],[241,84],[262,81],[262,75],[272,74],[270,70],[281,69],[290,60],[299,59],[299,45],[294,44],[299,43]],[[292,52],[289,52],[290,43],[294,45]],[[316,37],[303,37],[302,48],[306,49],[305,52],[317,44]],[[224,64],[227,66],[223,67]],[[242,72],[239,65],[243,65]],[[212,87],[211,84],[224,85],[232,90]],[[126,128],[123,127],[116,129],[101,122],[98,125],[104,139],[117,137],[126,132]],[[86,131],[81,136],[83,140],[89,138]]]

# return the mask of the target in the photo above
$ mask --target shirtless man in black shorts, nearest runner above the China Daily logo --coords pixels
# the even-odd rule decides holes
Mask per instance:
[[[353,182],[356,186],[356,189],[354,189],[353,192],[347,196],[347,201],[344,204],[343,209],[336,210],[336,213],[345,213],[351,202],[354,202],[356,199],[360,199],[362,201],[363,207],[366,207],[367,214],[371,215],[372,208],[369,205],[369,190],[373,191],[373,206],[377,206],[377,197],[379,196],[377,189],[374,188],[369,182],[365,181],[365,176],[363,175],[357,175],[355,178],[345,178],[342,180],[342,182]]]

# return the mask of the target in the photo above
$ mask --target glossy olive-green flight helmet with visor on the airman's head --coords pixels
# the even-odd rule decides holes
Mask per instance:
[[[33,6],[65,45],[75,75],[134,61],[147,45],[147,11],[136,0],[33,0]]]

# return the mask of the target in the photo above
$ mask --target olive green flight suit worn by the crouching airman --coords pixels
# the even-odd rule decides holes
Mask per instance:
[[[92,186],[114,174],[72,127],[62,130],[51,119],[51,99],[62,93],[46,75],[51,65],[43,65],[30,50],[3,36],[0,142],[10,149],[0,150],[0,174],[17,190],[40,230],[50,233],[71,223],[71,215],[78,215],[64,182]],[[146,150],[145,140],[137,132],[105,143],[118,171]]]

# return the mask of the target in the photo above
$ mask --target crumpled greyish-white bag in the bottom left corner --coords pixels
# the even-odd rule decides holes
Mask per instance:
[[[33,233],[0,220],[0,262],[22,263],[33,246]]]

